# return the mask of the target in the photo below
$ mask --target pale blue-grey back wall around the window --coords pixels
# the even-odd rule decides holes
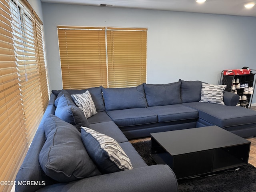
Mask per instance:
[[[43,3],[50,89],[62,89],[57,25],[148,28],[147,83],[218,84],[224,69],[256,69],[256,18]]]

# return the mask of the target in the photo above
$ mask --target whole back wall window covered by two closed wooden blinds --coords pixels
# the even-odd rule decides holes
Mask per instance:
[[[64,89],[146,82],[146,28],[58,26]]]

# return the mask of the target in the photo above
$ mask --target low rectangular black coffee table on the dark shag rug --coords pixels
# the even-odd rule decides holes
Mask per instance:
[[[177,179],[248,164],[251,142],[218,126],[208,126],[151,135],[151,156],[168,164]]]

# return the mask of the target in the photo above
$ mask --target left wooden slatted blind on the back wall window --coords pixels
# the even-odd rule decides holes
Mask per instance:
[[[64,89],[107,86],[105,32],[102,28],[58,27]]]

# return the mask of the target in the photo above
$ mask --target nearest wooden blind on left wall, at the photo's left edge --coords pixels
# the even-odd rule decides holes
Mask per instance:
[[[7,0],[0,2],[0,180],[13,181],[27,151],[25,122],[16,67],[12,19]],[[0,185],[0,191],[12,186]]]

